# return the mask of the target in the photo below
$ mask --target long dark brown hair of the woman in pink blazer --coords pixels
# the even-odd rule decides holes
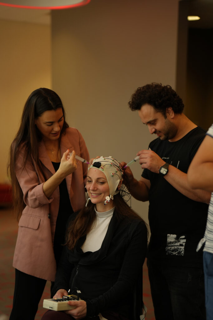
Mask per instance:
[[[63,111],[64,124],[61,134],[64,134],[66,128],[68,128],[68,124],[65,122],[65,111],[62,101],[56,92],[47,88],[36,89],[30,94],[25,103],[19,130],[10,147],[10,158],[7,168],[8,176],[12,184],[13,209],[16,213],[17,220],[19,220],[26,206],[23,199],[23,192],[15,172],[17,157],[21,149],[23,149],[23,168],[26,165],[27,159],[33,157],[39,171],[42,172],[38,154],[38,143],[42,140],[42,135],[35,125],[35,119],[47,110],[56,110],[58,108],[62,108]]]

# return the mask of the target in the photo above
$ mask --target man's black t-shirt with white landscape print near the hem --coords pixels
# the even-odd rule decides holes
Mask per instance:
[[[186,173],[204,137],[205,131],[196,127],[178,141],[157,138],[149,147],[165,162]],[[151,183],[148,257],[171,265],[200,266],[202,252],[196,252],[196,247],[205,232],[208,205],[184,196],[160,174],[144,169],[142,177]]]

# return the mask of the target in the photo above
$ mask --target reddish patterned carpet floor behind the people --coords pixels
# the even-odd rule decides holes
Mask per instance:
[[[15,270],[12,267],[13,253],[17,238],[18,223],[11,208],[0,208],[0,320],[8,320],[12,308]],[[31,292],[31,294],[33,294]],[[47,282],[35,320],[40,320],[46,309],[43,299],[50,298],[50,283]],[[146,320],[155,320],[148,281],[146,261],[143,267],[143,300],[147,306]]]

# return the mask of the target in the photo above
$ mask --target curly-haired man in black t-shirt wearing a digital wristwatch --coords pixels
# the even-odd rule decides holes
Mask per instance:
[[[140,180],[126,168],[129,192],[149,201],[147,263],[156,320],[205,319],[202,253],[196,246],[205,231],[210,193],[187,182],[205,131],[183,114],[181,98],[168,85],[138,88],[129,107],[158,137],[137,153],[144,169]]]

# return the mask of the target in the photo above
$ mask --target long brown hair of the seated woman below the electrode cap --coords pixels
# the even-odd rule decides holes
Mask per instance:
[[[118,220],[127,218],[129,220],[138,219],[144,222],[144,220],[126,204],[120,193],[114,196],[113,204],[115,205],[113,214],[116,214]],[[78,239],[87,235],[92,228],[95,217],[95,204],[89,201],[87,206],[78,213],[75,220],[71,221],[67,228],[66,245],[69,250],[73,251]]]

